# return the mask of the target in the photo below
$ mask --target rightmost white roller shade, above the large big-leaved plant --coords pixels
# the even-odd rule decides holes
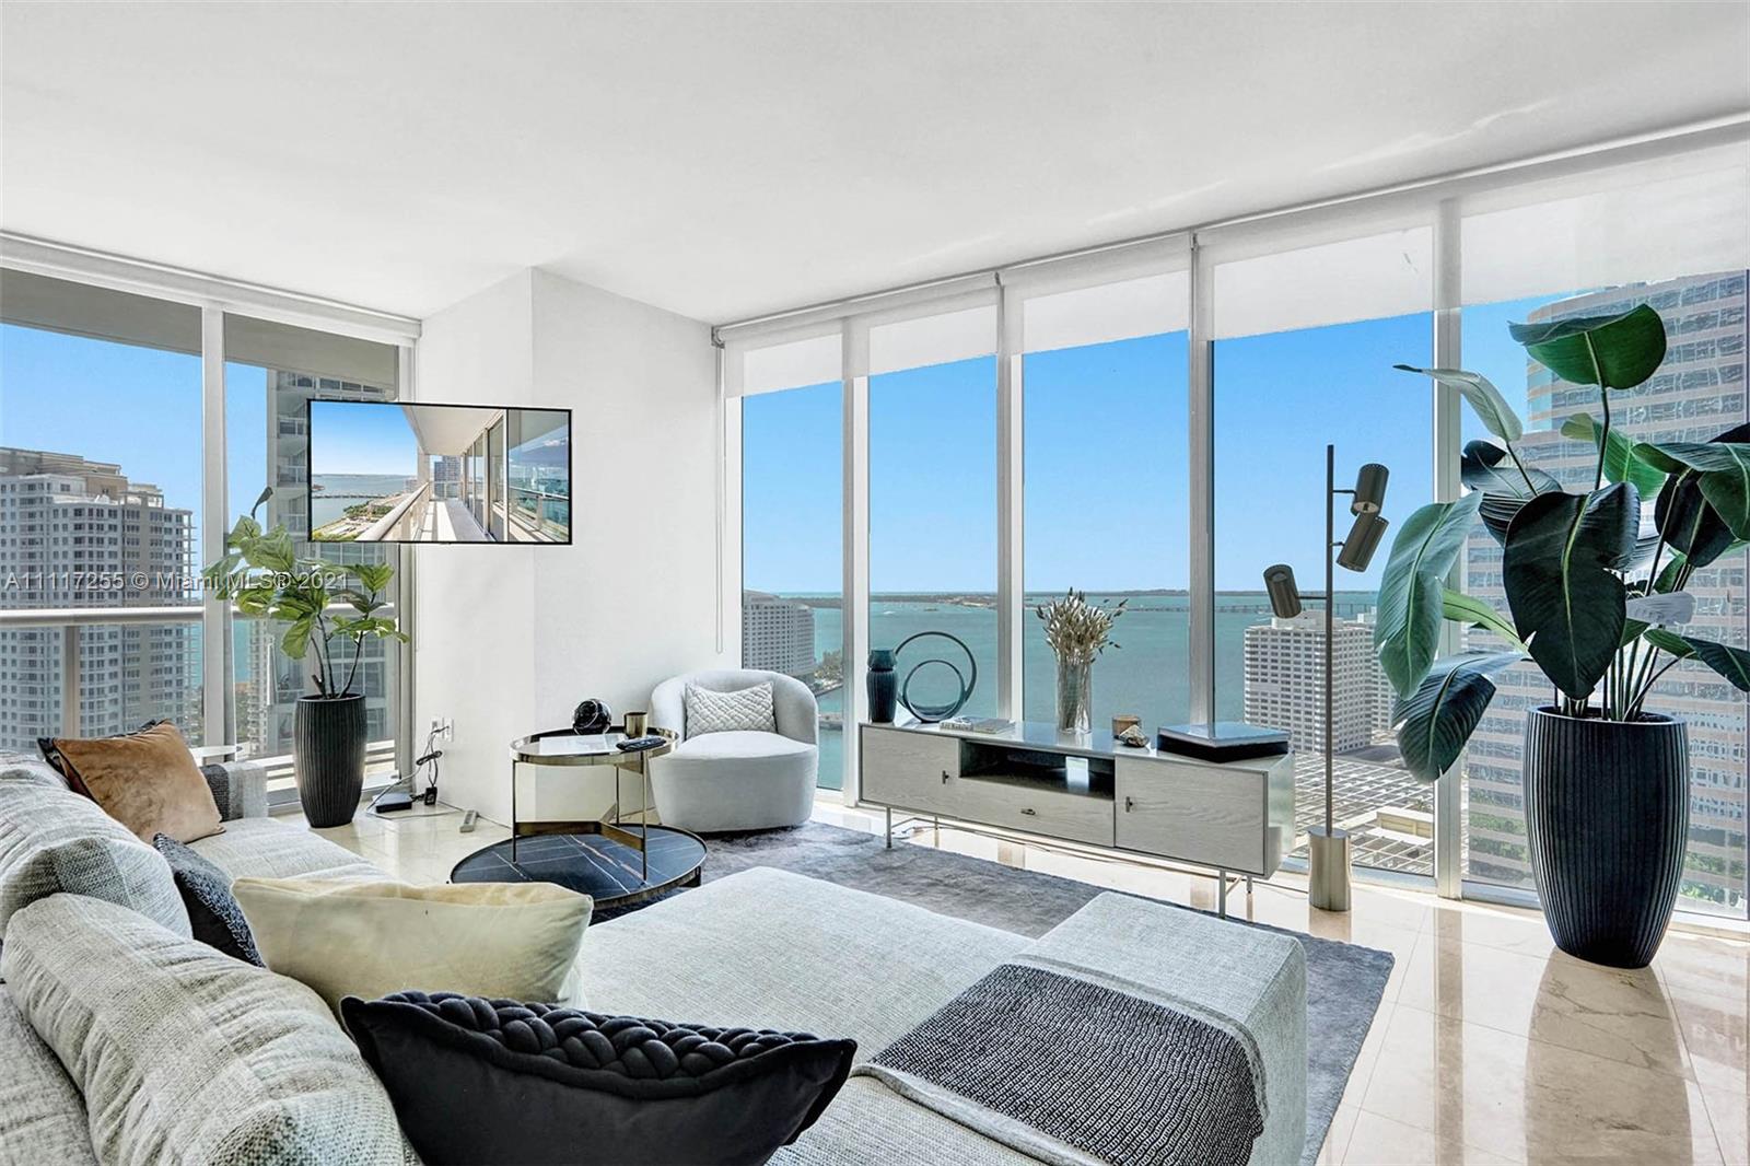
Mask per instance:
[[[1750,147],[1463,201],[1465,303],[1750,268]]]

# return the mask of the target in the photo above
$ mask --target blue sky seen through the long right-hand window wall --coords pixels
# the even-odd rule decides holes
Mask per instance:
[[[1465,364],[1524,410],[1524,350],[1507,334],[1547,298],[1465,310]],[[1432,387],[1391,366],[1432,362],[1426,313],[1223,340],[1216,345],[1216,587],[1256,590],[1290,562],[1323,585],[1325,443],[1339,485],[1391,469],[1393,527],[1433,495]],[[1186,587],[1183,333],[1027,357],[1026,587]],[[1484,436],[1466,415],[1465,436]],[[840,588],[840,387],[742,403],[747,587]],[[1337,536],[1348,530],[1339,511]],[[1388,532],[1388,539],[1393,532]],[[1372,588],[1386,553],[1339,588]],[[996,587],[996,362],[961,361],[870,382],[870,585],[877,592]]]

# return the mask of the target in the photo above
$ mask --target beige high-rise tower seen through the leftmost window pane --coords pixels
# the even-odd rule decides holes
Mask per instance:
[[[0,446],[0,608],[194,604],[194,513],[114,462]],[[63,629],[0,630],[0,748],[61,723]],[[201,732],[198,623],[79,629],[79,734],[173,720]]]

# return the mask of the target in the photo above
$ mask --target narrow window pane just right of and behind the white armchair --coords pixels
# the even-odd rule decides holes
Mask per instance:
[[[833,327],[737,352],[742,667],[784,672],[819,704],[819,784],[845,779],[844,383]]]

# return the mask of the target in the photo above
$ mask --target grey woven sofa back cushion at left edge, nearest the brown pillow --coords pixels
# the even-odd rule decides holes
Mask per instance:
[[[191,935],[170,863],[96,802],[33,781],[0,781],[0,935],[12,914],[66,891],[119,903]]]

